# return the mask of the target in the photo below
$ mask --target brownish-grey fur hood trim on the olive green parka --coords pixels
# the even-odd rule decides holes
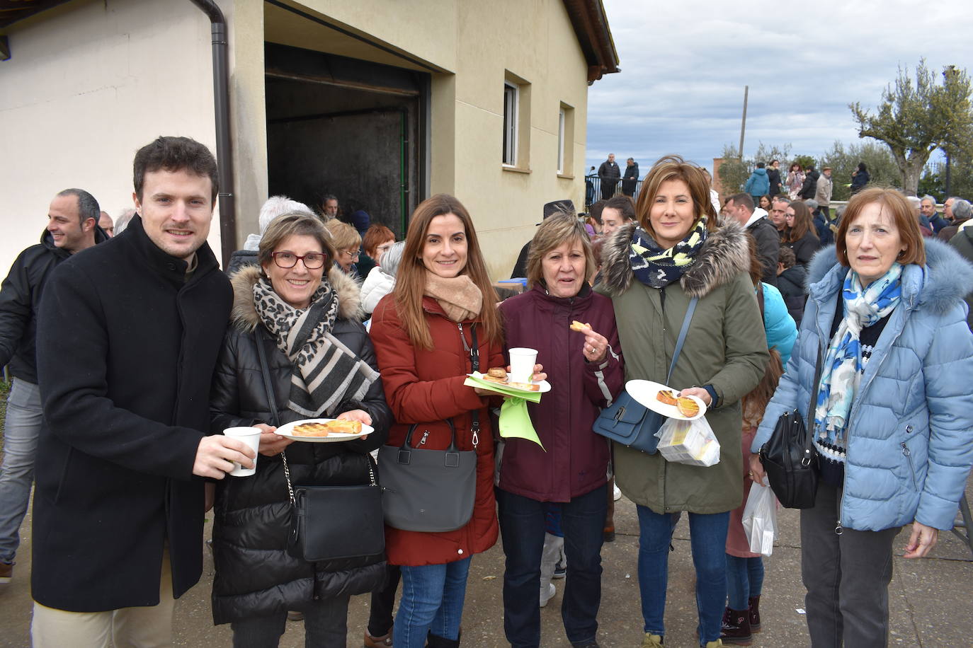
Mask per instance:
[[[634,273],[629,263],[629,251],[631,234],[636,226],[631,223],[620,227],[602,248],[601,276],[611,295],[619,295],[631,286]],[[689,296],[703,297],[749,269],[750,244],[746,232],[739,222],[727,222],[707,233],[696,262],[686,270],[679,283]]]

